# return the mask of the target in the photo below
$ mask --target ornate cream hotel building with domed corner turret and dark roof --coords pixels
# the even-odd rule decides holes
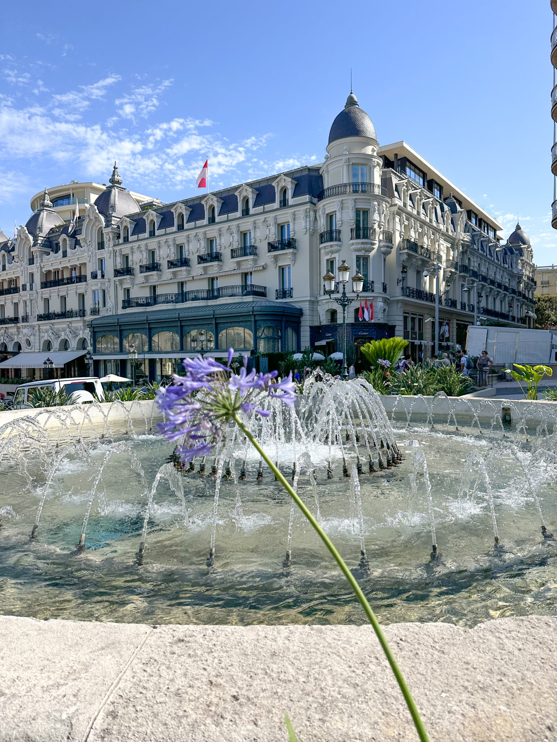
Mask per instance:
[[[349,294],[356,346],[402,335],[419,360],[441,326],[447,349],[474,321],[532,326],[532,248],[519,225],[503,243],[501,225],[405,142],[380,146],[353,93],[326,151],[321,165],[168,204],[126,191],[114,166],[98,193],[71,184],[78,206],[94,195],[77,221],[45,191],[0,245],[0,349],[91,348],[95,372],[129,375],[133,342],[152,379],[193,352],[192,338],[216,355],[342,350],[342,309],[322,280],[342,260],[365,279],[357,301]]]

